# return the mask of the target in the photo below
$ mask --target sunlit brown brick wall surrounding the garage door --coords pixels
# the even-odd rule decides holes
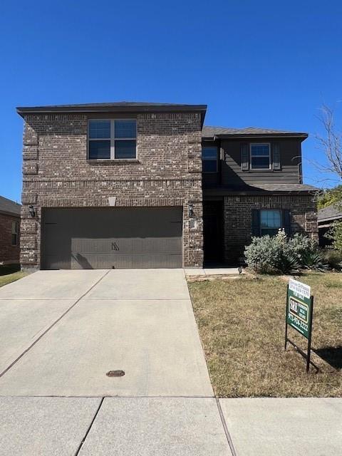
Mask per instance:
[[[125,118],[104,115],[104,118]],[[132,117],[130,115],[129,117]],[[184,266],[202,266],[202,162],[199,113],[140,113],[137,160],[87,160],[88,117],[26,115],[21,266],[41,261],[42,207],[183,207]],[[111,204],[109,202],[111,198]],[[188,204],[194,217],[188,217]],[[33,204],[36,217],[28,207]]]

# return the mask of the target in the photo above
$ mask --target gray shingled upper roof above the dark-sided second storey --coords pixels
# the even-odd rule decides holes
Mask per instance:
[[[246,127],[246,128],[228,128],[228,127],[209,127],[204,125],[202,128],[202,138],[222,138],[222,137],[260,137],[260,136],[290,136],[296,138],[307,138],[307,133],[299,133],[294,131],[286,130],[274,130],[272,128],[257,128],[257,127]]]

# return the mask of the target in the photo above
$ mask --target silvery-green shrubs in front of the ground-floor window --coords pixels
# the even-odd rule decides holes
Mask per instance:
[[[301,268],[325,271],[328,267],[314,239],[305,234],[287,239],[283,229],[274,237],[253,237],[244,255],[247,265],[259,274],[291,274]]]

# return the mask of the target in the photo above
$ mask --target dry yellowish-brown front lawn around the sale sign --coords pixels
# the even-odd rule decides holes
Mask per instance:
[[[286,281],[279,276],[189,283],[209,373],[219,397],[342,396],[342,274],[310,273],[314,322],[305,372],[294,348],[284,351]],[[306,349],[292,328],[289,338]]]

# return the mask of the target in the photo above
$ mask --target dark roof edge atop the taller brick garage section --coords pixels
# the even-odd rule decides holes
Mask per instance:
[[[78,105],[20,106],[16,108],[20,115],[29,113],[100,113],[100,112],[177,112],[202,111],[207,105],[185,105],[176,103],[146,103],[140,101],[115,101],[113,103],[83,103]]]

